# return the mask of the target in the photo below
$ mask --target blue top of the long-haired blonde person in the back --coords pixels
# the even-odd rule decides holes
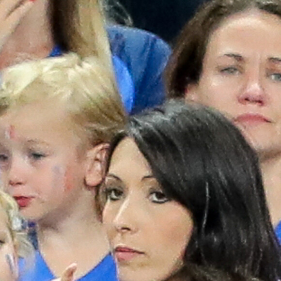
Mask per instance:
[[[137,113],[165,100],[163,71],[170,47],[156,35],[135,28],[107,28],[116,81],[125,109]],[[50,56],[60,56],[54,47]]]

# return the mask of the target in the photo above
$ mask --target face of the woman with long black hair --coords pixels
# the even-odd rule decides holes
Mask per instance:
[[[103,211],[121,281],[161,281],[183,263],[193,222],[188,210],[169,200],[135,142],[115,149],[105,185]]]

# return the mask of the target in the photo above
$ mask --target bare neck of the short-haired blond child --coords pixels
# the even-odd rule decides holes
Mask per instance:
[[[38,222],[39,249],[55,276],[76,262],[76,278],[81,277],[109,252],[104,228],[95,215],[93,194],[81,201],[62,219]]]

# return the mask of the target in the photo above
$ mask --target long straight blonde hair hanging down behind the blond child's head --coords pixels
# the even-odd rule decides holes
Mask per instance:
[[[65,51],[99,57],[113,74],[104,6],[103,0],[54,0],[50,8],[55,41]]]

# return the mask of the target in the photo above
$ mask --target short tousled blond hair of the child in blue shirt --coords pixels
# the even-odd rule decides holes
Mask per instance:
[[[32,102],[61,103],[91,145],[108,142],[125,125],[125,110],[114,79],[96,57],[77,54],[24,62],[5,69],[0,114]],[[51,111],[51,109],[50,109]]]

